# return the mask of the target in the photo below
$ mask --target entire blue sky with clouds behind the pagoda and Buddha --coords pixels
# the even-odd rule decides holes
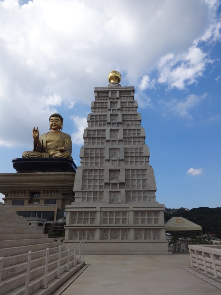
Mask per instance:
[[[135,87],[156,200],[221,207],[220,14],[216,0],[1,0],[0,173],[54,111],[79,165],[94,87],[118,70]]]

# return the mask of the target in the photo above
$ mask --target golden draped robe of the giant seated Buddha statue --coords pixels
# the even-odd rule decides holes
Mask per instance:
[[[55,142],[46,143],[48,133],[44,133],[39,137],[37,146],[34,145],[33,151],[24,151],[23,158],[65,158],[72,160],[71,151],[72,143],[69,134],[60,132],[59,139]],[[59,148],[65,147],[65,151],[59,151]],[[57,150],[56,153],[50,155],[51,151]]]

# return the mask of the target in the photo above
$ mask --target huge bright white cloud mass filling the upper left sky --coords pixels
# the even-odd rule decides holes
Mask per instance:
[[[0,145],[27,145],[54,109],[90,104],[113,69],[139,88],[140,106],[157,79],[185,89],[210,62],[200,42],[220,38],[219,1],[26,2],[0,1]]]

